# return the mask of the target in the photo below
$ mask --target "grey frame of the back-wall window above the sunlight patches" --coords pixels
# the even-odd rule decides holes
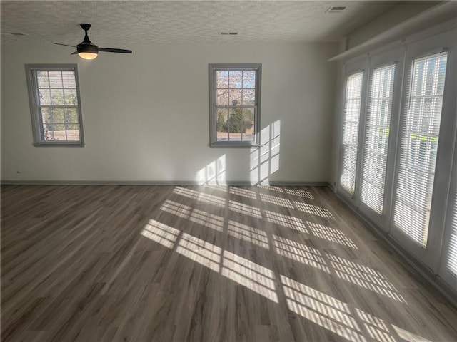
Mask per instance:
[[[216,105],[216,71],[248,70],[256,71],[256,100],[254,105],[241,106],[254,110],[254,140],[253,141],[218,141],[217,140],[217,108]],[[209,147],[258,147],[260,143],[261,118],[261,63],[217,63],[209,64]],[[228,108],[233,106],[229,105]],[[239,107],[239,105],[238,105]]]

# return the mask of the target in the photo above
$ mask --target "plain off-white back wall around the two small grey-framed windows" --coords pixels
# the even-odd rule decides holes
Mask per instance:
[[[50,43],[1,46],[1,180],[196,181],[219,159],[220,180],[250,181],[250,149],[209,148],[209,63],[263,64],[261,127],[281,122],[269,180],[329,180],[336,44],[126,48],[84,61]],[[86,147],[32,145],[26,63],[78,63]]]

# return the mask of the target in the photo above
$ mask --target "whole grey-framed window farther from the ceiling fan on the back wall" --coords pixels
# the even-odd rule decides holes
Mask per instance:
[[[211,147],[258,145],[261,64],[210,64]]]

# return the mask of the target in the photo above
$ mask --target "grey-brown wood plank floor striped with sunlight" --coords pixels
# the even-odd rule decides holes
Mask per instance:
[[[457,341],[326,187],[1,186],[2,341]]]

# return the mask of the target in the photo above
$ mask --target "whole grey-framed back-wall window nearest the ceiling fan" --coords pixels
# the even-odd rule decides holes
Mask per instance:
[[[35,147],[84,147],[76,64],[26,65]]]

